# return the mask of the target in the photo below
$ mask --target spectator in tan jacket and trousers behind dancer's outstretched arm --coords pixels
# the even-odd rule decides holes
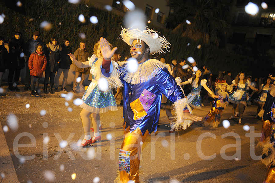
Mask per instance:
[[[86,43],[84,41],[81,41],[79,46],[80,47],[74,53],[75,59],[78,60],[79,62],[88,61],[89,52],[85,48]],[[76,82],[76,79],[79,76],[81,76],[81,80],[79,82],[79,91],[80,92],[85,91],[84,86],[83,86],[83,82],[84,82],[84,79],[85,79],[85,73],[87,71],[90,71],[90,68],[78,68],[77,66],[75,66],[75,78],[74,78],[74,86],[73,86],[73,92],[74,93],[79,93],[77,91],[78,83]]]

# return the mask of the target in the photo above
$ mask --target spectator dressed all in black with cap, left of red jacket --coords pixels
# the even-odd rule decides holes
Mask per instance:
[[[25,66],[23,48],[24,48],[24,41],[21,38],[21,32],[15,31],[13,34],[13,38],[9,42],[9,61],[8,61],[8,68],[9,68],[9,90],[11,91],[20,91],[17,87],[20,71]],[[22,53],[22,54],[21,54]],[[14,76],[14,79],[13,79]]]

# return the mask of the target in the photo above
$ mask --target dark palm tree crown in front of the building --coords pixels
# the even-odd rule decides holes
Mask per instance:
[[[217,0],[170,0],[168,6],[174,9],[166,22],[174,28],[173,32],[182,32],[195,41],[219,46],[221,38],[229,30],[224,6]],[[189,20],[191,24],[187,24]]]

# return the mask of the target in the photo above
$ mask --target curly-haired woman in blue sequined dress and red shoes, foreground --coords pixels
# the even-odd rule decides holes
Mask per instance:
[[[109,46],[112,48],[112,45],[109,43]],[[110,47],[105,49],[110,49]],[[100,124],[100,113],[105,113],[108,110],[116,111],[117,105],[116,100],[112,92],[112,88],[121,87],[122,82],[119,78],[119,72],[117,71],[117,63],[113,58],[110,57],[110,60],[104,60],[104,63],[107,61],[110,64],[110,70],[106,71],[103,67],[103,57],[101,51],[103,46],[100,45],[98,41],[94,45],[94,54],[92,57],[88,58],[89,61],[79,62],[75,59],[73,54],[68,54],[72,60],[72,63],[79,68],[91,67],[90,74],[92,75],[92,82],[85,91],[80,105],[82,111],[80,116],[82,119],[82,125],[84,129],[84,139],[81,142],[81,146],[91,145],[97,140],[101,140],[99,134],[99,124]],[[112,52],[115,52],[117,48],[112,49]],[[96,55],[95,55],[96,54]],[[90,118],[92,116],[94,137],[90,136]]]

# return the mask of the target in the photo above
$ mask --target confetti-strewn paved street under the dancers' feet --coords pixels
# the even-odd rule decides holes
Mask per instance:
[[[116,112],[101,115],[103,127],[101,143],[78,149],[75,143],[79,139],[82,140],[84,135],[79,115],[81,108],[75,106],[71,100],[68,103],[72,112],[68,112],[68,107],[64,104],[66,100],[59,97],[60,93],[30,97],[29,92],[19,92],[20,96],[8,92],[6,96],[0,97],[2,127],[6,125],[7,115],[10,113],[16,115],[19,123],[17,131],[9,130],[4,133],[18,181],[20,183],[50,182],[44,177],[45,171],[50,170],[54,174],[52,182],[93,182],[95,177],[99,177],[101,183],[113,182],[117,177],[118,153],[123,140],[122,107],[119,106]],[[74,96],[74,99],[78,97],[81,97],[81,94]],[[30,104],[30,108],[26,108],[26,104]],[[230,117],[231,108],[231,105],[226,108],[222,120]],[[44,116],[39,114],[42,109],[46,110]],[[209,109],[208,104],[201,110],[195,109],[194,114],[204,117]],[[168,183],[174,179],[190,183],[262,182],[267,169],[259,160],[251,158],[250,148],[253,145],[250,145],[250,139],[246,137],[249,131],[243,130],[243,125],[249,125],[255,127],[255,133],[260,132],[262,121],[253,117],[255,111],[255,105],[246,108],[242,125],[237,124],[235,119],[235,121],[230,120],[231,126],[228,129],[225,129],[222,124],[217,129],[211,129],[200,126],[201,123],[196,122],[187,130],[181,130],[172,135],[168,133],[170,128],[167,126],[169,124],[165,112],[161,111],[158,131],[147,137],[142,148],[141,177],[144,182]],[[240,157],[234,155],[236,138],[230,135],[222,138],[222,135],[228,132],[235,133],[231,135],[235,135],[241,143]],[[107,140],[107,134],[112,135],[111,140]],[[199,136],[202,134],[206,137],[200,140]],[[21,138],[19,138],[20,135]],[[211,135],[212,137],[207,137]],[[50,138],[44,147],[43,136]],[[15,139],[19,140],[19,144],[29,144],[29,147],[19,147],[17,152],[14,148]],[[59,147],[62,139],[68,142],[68,146],[64,149]],[[255,146],[258,141],[259,137],[256,137]],[[235,144],[235,146],[226,148],[225,152],[222,152],[224,149],[222,147],[229,144]],[[24,161],[15,156],[17,153],[22,156],[34,156],[33,159]],[[207,157],[210,160],[203,157],[213,156],[213,154],[215,157]],[[261,149],[255,147],[255,154],[259,156]],[[226,160],[222,158],[225,156],[239,159]],[[8,171],[4,167],[6,166],[2,162],[0,173]],[[76,178],[72,180],[71,175],[74,173]],[[5,182],[5,178],[2,182]]]

